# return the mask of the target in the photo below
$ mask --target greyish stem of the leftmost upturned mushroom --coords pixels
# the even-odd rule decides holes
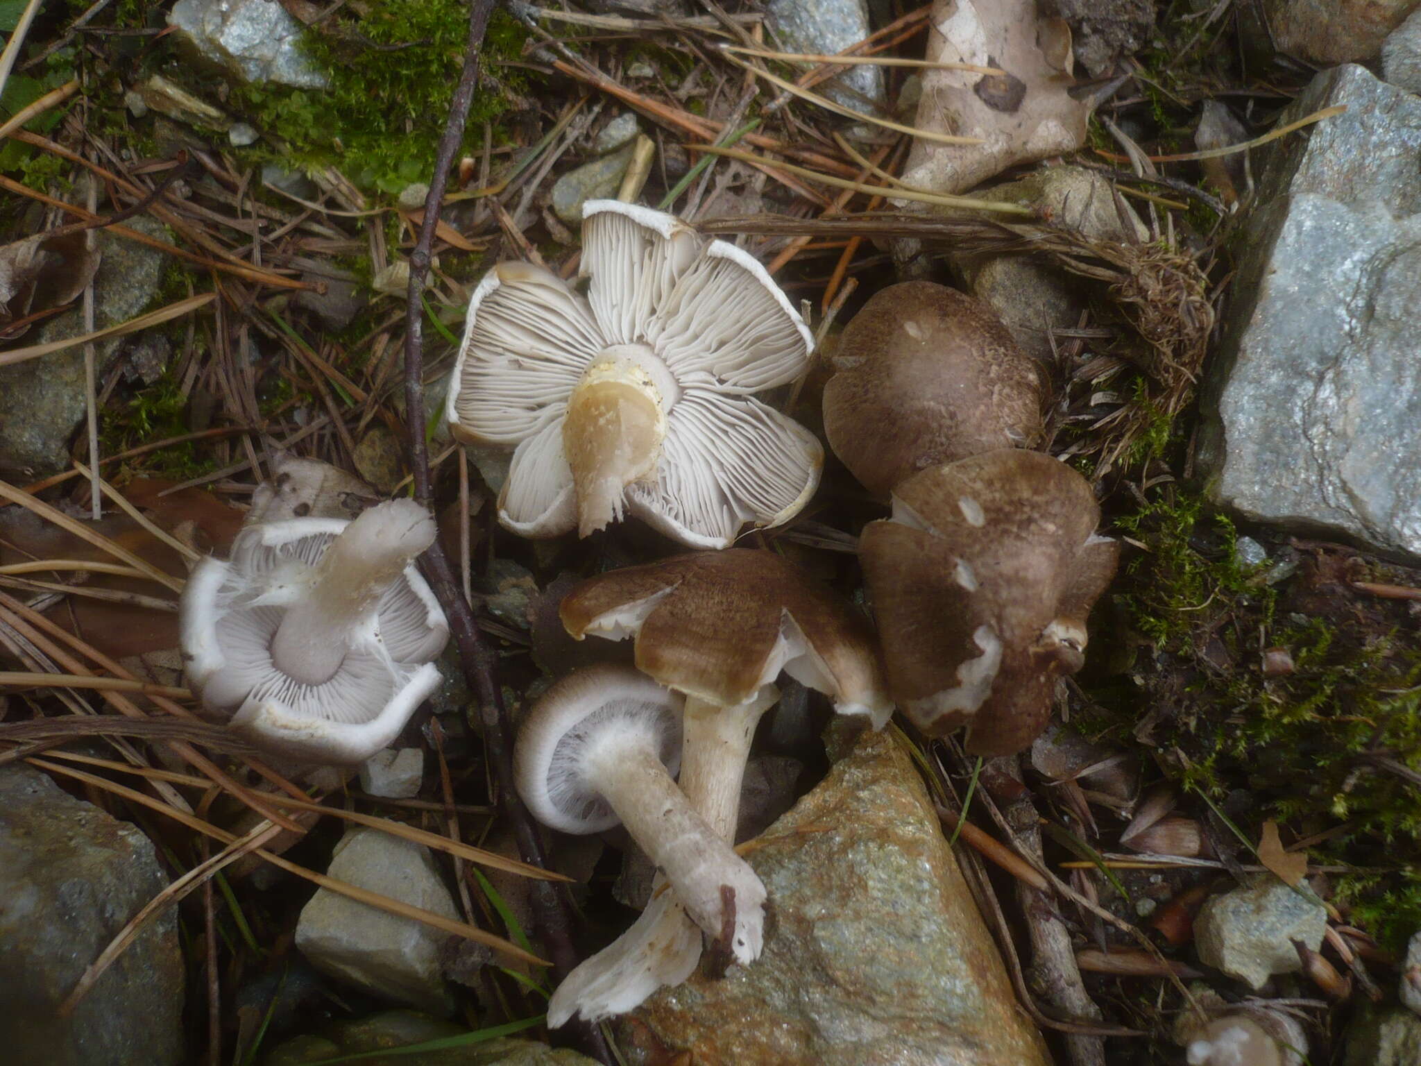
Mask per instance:
[[[271,638],[271,661],[303,685],[330,681],[351,635],[435,533],[433,517],[414,500],[388,500],[360,515],[327,546],[308,587],[287,608]]]

